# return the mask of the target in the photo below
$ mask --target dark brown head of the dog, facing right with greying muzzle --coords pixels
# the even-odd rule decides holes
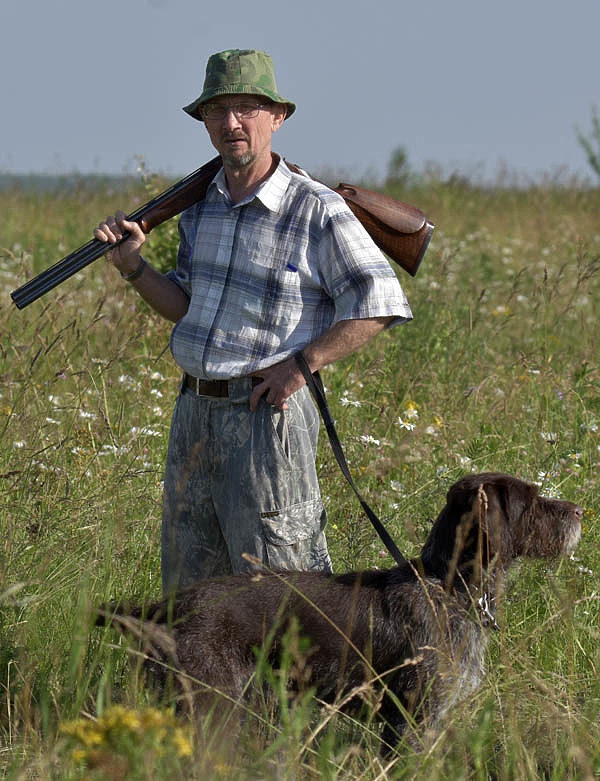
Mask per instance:
[[[448,491],[421,553],[426,571],[466,581],[518,556],[552,558],[579,542],[583,510],[539,495],[533,483],[495,472],[463,477]]]

